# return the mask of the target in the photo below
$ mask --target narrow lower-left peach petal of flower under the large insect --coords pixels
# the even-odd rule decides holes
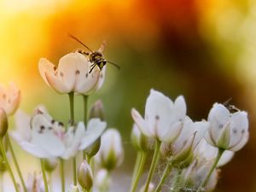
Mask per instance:
[[[45,77],[49,82],[49,85],[57,92],[64,94],[71,92],[72,89],[68,88],[60,79],[57,79],[55,75],[50,73],[45,73]]]

